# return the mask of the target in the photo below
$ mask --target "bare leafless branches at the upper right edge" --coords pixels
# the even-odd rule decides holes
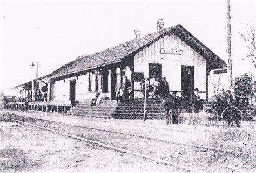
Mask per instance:
[[[245,40],[246,47],[248,48],[248,54],[247,58],[251,59],[251,62],[254,64],[254,67],[256,68],[256,45],[255,45],[255,26],[254,23],[252,22],[251,25],[246,24],[245,26],[245,33],[240,33],[238,32],[241,37]],[[245,57],[243,58],[245,59]]]

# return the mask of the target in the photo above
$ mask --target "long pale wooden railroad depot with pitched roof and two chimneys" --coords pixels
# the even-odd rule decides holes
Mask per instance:
[[[45,100],[75,103],[92,99],[99,91],[101,98],[114,100],[124,76],[131,81],[134,96],[144,77],[150,81],[166,77],[170,92],[186,96],[198,88],[200,97],[208,99],[208,74],[226,68],[220,57],[181,25],[164,28],[163,20],[158,20],[156,32],[144,37],[140,37],[139,30],[134,32],[136,38],[131,41],[81,56],[35,79],[30,92],[47,87]],[[37,92],[32,95],[35,100]]]

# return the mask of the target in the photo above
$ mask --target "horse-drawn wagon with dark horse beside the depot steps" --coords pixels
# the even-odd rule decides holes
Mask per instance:
[[[174,98],[171,97],[163,101],[166,111],[169,112],[171,110],[173,112],[173,110],[176,110],[176,113],[179,114],[178,119],[180,119],[180,116],[188,114],[188,124],[191,124],[191,121],[193,121],[193,124],[212,126],[218,122],[222,122],[223,125],[235,125],[239,127],[243,120],[254,121],[254,111],[251,109],[250,105],[248,105],[248,102],[244,101],[244,98],[239,99],[236,104],[223,104],[220,102],[204,103],[197,113],[194,113],[192,110],[190,98],[179,97],[176,99],[176,102],[174,102],[173,99]],[[171,119],[173,118],[172,112]],[[166,124],[168,124],[169,114],[166,115]]]

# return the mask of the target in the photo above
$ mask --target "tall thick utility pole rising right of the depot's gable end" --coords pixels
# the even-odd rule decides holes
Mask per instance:
[[[230,0],[227,0],[227,58],[228,58],[228,81],[233,88],[232,57],[231,57],[231,25],[230,25]]]

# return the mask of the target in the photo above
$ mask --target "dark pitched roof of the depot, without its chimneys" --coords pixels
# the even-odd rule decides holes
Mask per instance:
[[[183,40],[188,46],[192,47],[194,51],[203,56],[210,69],[225,68],[225,61],[221,60],[219,56],[214,54],[203,43],[201,43],[196,37],[188,32],[183,26],[176,25],[173,27],[165,28],[161,34],[154,32],[144,37],[136,38],[130,41],[126,41],[123,44],[105,49],[104,51],[97,52],[95,54],[82,56],[79,59],[71,61],[59,69],[53,71],[49,75],[38,78],[38,80],[53,79],[57,77],[65,77],[67,75],[77,74],[82,71],[94,69],[107,64],[113,64],[122,61],[122,59],[128,55],[131,55],[144,48],[147,45],[152,44],[154,41],[160,39],[166,34],[174,33]]]

